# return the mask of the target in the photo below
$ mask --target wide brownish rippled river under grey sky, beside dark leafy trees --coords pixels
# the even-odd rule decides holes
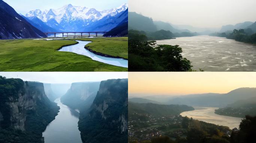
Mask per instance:
[[[216,36],[159,40],[157,44],[180,45],[192,69],[205,71],[256,71],[256,45]]]

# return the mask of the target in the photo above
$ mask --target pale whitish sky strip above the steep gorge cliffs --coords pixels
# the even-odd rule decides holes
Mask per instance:
[[[127,79],[127,72],[0,72],[6,78],[42,83],[98,82],[107,79]]]

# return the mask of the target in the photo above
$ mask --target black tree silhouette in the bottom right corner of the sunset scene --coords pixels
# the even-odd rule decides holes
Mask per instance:
[[[231,143],[253,143],[256,135],[256,116],[247,115],[239,125],[239,131],[231,134]]]

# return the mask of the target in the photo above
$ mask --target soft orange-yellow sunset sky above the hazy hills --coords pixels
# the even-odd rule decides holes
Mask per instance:
[[[228,93],[237,88],[256,88],[256,72],[129,72],[128,76],[128,91],[133,95]]]

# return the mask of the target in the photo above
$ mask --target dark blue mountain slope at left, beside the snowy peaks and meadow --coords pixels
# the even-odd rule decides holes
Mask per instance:
[[[3,0],[0,0],[0,13],[0,39],[46,37]]]

